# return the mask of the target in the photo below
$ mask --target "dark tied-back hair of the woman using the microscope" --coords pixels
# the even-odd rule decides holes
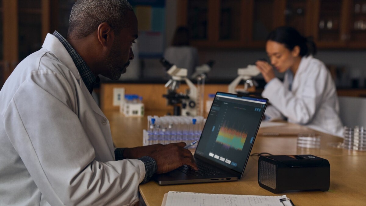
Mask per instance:
[[[296,29],[289,26],[281,26],[273,30],[268,35],[268,40],[284,44],[290,51],[295,46],[299,46],[300,56],[315,55],[317,53],[317,47],[311,37],[303,37]]]

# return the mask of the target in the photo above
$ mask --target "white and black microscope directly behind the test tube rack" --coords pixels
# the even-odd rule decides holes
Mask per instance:
[[[167,69],[167,74],[171,76],[165,88],[168,89],[168,94],[163,95],[167,99],[167,104],[174,108],[174,115],[196,116],[197,115],[197,88],[187,78],[187,69],[178,68],[171,64],[166,59],[161,58],[160,63]],[[180,82],[185,81],[188,85],[186,93],[178,93]]]

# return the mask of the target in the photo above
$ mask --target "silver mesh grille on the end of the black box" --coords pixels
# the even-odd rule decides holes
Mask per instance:
[[[276,190],[276,165],[265,161],[259,162],[259,182]]]

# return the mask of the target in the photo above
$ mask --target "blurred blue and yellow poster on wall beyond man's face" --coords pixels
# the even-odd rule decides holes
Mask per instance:
[[[165,0],[128,0],[138,21],[139,58],[160,58],[164,53]]]

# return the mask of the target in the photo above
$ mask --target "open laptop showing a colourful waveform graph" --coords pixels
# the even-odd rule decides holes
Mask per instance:
[[[195,171],[184,165],[153,176],[159,185],[241,179],[268,99],[217,92],[199,139]]]

